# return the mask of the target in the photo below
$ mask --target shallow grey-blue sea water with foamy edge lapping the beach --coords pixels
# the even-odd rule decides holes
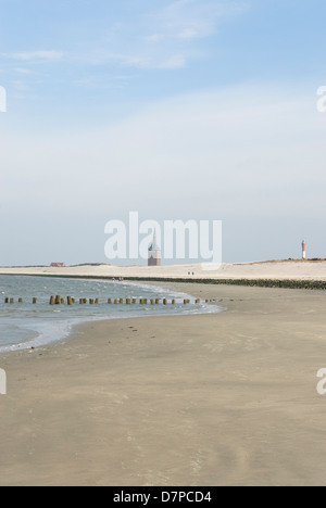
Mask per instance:
[[[51,295],[61,295],[64,305],[49,305]],[[76,300],[66,305],[66,297]],[[5,304],[5,299],[14,299]],[[33,299],[37,304],[33,305]],[[166,297],[170,303],[163,305]],[[23,303],[18,303],[23,299]],[[79,305],[79,299],[99,299],[98,305]],[[124,304],[110,305],[108,299],[124,299]],[[126,305],[136,299],[136,305]],[[140,299],[161,299],[160,305],[140,305]],[[171,305],[172,300],[176,305]],[[184,300],[190,299],[190,305]],[[141,316],[216,313],[215,305],[195,304],[184,293],[134,282],[113,280],[59,279],[53,277],[0,276],[0,353],[38,347],[66,338],[74,325],[91,321]]]

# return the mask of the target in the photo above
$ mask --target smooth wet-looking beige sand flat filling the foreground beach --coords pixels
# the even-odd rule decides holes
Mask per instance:
[[[227,310],[0,358],[0,485],[326,484],[325,293],[174,287]]]

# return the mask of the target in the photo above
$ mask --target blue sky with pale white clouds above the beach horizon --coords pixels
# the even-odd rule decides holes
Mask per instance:
[[[223,220],[226,263],[299,257],[303,238],[326,257],[325,15],[0,0],[0,265],[110,263],[105,224],[133,211]]]

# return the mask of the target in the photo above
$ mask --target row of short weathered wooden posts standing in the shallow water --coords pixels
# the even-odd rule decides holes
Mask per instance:
[[[160,305],[161,303],[161,300],[162,299],[151,299],[151,300],[148,300],[148,299],[140,299],[139,300],[139,304],[140,305],[148,305],[148,303],[150,302],[151,305]],[[210,301],[206,300],[206,303],[209,303]],[[4,303],[5,304],[14,304],[15,301],[14,299],[9,299],[9,297],[5,297],[4,299]],[[18,299],[18,303],[23,303],[23,299]],[[57,296],[51,296],[50,297],[50,305],[64,305],[65,303],[65,299],[62,299],[60,295],[57,295]],[[72,296],[67,296],[66,297],[66,303],[67,305],[74,305],[76,303],[76,300],[73,299]],[[99,299],[79,299],[79,305],[86,305],[86,304],[90,304],[90,305],[98,305],[100,303]],[[114,304],[114,305],[117,305],[117,304],[124,304],[126,303],[126,305],[135,305],[137,304],[137,299],[108,299],[108,304]],[[168,305],[168,301],[167,299],[163,299],[163,305]],[[184,305],[189,305],[191,302],[190,300],[184,300]],[[201,303],[201,300],[200,299],[197,299],[195,301],[195,303],[197,305],[199,305]],[[37,299],[33,299],[33,305],[36,305],[37,304]],[[172,300],[171,301],[171,304],[172,305],[176,305],[176,300]]]

